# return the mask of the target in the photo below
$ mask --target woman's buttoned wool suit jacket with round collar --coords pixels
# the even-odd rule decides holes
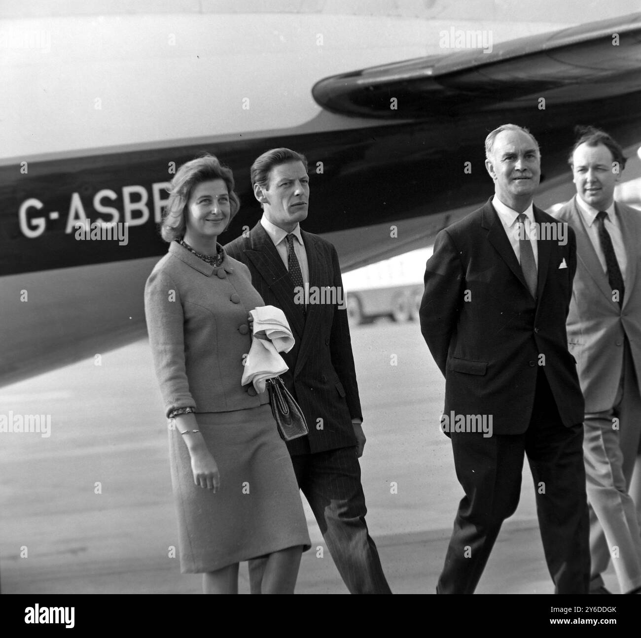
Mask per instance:
[[[228,412],[269,403],[266,392],[240,384],[251,347],[247,316],[263,305],[246,265],[226,254],[215,268],[171,242],[145,286],[149,345],[167,416],[177,407]]]

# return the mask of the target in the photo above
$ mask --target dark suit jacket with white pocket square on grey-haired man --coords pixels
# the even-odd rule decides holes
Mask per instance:
[[[536,207],[534,216],[539,224],[555,221]],[[522,434],[541,361],[563,424],[583,421],[565,332],[576,270],[571,228],[566,238],[565,245],[538,240],[537,303],[491,199],[438,233],[420,329],[445,376],[445,414],[492,414],[494,434]]]

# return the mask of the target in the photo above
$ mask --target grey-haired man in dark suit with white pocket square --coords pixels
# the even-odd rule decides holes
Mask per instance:
[[[525,454],[555,590],[587,593],[583,397],[565,334],[576,241],[533,206],[540,152],[529,131],[501,126],[485,151],[495,195],[438,233],[420,307],[465,492],[437,592],[474,592],[519,502]]]

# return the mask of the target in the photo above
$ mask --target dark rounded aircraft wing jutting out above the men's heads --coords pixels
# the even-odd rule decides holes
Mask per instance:
[[[487,40],[481,31],[476,33],[476,44],[482,46]],[[465,37],[454,28],[442,32],[446,44],[456,45],[457,38],[462,44]],[[416,120],[503,111],[543,95],[549,109],[567,102],[617,99],[641,88],[641,13],[510,40],[491,49],[331,76],[316,83],[312,94],[320,106],[342,115]],[[396,108],[390,108],[392,99]]]

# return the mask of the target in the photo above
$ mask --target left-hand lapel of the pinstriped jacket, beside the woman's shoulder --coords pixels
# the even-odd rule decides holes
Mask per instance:
[[[253,227],[249,233],[249,238],[251,240],[251,249],[244,251],[247,259],[253,263],[260,276],[274,293],[276,299],[278,299],[279,306],[287,315],[292,332],[300,340],[303,336],[304,316],[301,312],[301,307],[294,303],[292,280],[281,256],[278,254],[278,250],[274,246],[274,242],[260,222]]]

